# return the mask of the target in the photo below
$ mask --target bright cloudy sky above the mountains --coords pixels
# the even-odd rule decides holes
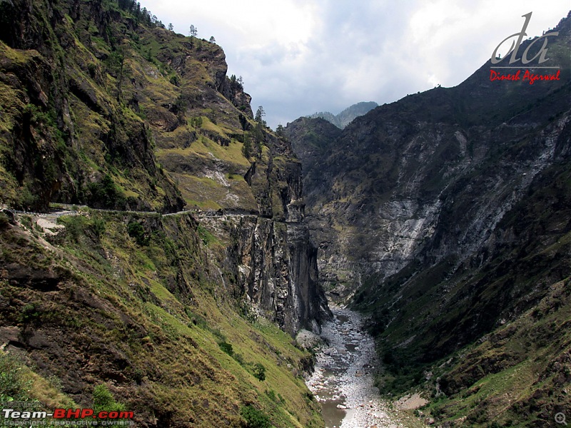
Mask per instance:
[[[521,31],[541,36],[569,0],[141,0],[163,24],[222,46],[272,128],[359,101],[456,86]],[[505,44],[505,51],[509,48]],[[500,50],[501,52],[502,50]],[[502,54],[502,57],[505,56]]]

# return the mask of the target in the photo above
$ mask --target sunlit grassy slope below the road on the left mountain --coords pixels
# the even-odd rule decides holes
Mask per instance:
[[[148,245],[128,235],[132,221],[148,231]],[[0,232],[1,262],[9,266],[1,296],[11,302],[1,308],[0,334],[12,332],[11,354],[59,379],[84,406],[96,384],[108,385],[141,427],[153,420],[239,426],[246,404],[276,427],[319,426],[318,405],[300,377],[309,356],[277,327],[238,315],[232,295],[239,290],[214,273],[221,245],[205,246],[191,218],[84,213],[62,222],[66,238],[55,246],[23,227]],[[231,344],[235,357],[219,342]],[[263,382],[253,375],[256,363],[266,367]],[[37,388],[32,395],[69,404],[48,394]]]

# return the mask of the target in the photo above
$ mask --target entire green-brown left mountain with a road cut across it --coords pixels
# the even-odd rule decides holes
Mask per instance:
[[[2,401],[323,424],[293,341],[330,317],[301,164],[221,47],[128,0],[0,22]]]

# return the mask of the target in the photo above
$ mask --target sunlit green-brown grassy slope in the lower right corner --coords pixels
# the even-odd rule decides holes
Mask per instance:
[[[454,426],[543,427],[569,408],[569,280],[535,307],[435,366],[446,394],[428,410]]]

